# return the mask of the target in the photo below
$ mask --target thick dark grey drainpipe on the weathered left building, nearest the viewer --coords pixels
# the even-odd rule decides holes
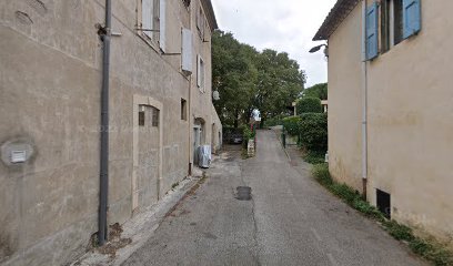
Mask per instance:
[[[100,193],[99,193],[99,245],[107,241],[107,208],[109,196],[109,79],[110,79],[110,38],[112,19],[111,0],[105,0],[105,28],[101,37],[102,53],[102,92],[101,92],[101,162],[100,162]]]

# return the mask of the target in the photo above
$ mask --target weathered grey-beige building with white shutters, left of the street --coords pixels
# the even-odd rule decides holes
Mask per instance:
[[[98,232],[104,1],[0,2],[0,264],[63,265]],[[221,145],[210,0],[114,0],[108,224]]]

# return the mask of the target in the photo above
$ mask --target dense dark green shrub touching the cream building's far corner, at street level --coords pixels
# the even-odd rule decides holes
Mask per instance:
[[[309,151],[328,150],[328,114],[305,113],[299,122],[300,143]]]

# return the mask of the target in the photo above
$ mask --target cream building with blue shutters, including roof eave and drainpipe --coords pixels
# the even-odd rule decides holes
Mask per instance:
[[[329,168],[389,217],[453,246],[453,1],[339,0],[329,43]]]

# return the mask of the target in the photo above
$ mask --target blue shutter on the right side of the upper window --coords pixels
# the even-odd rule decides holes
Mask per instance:
[[[403,0],[404,39],[417,33],[422,29],[420,0]]]

